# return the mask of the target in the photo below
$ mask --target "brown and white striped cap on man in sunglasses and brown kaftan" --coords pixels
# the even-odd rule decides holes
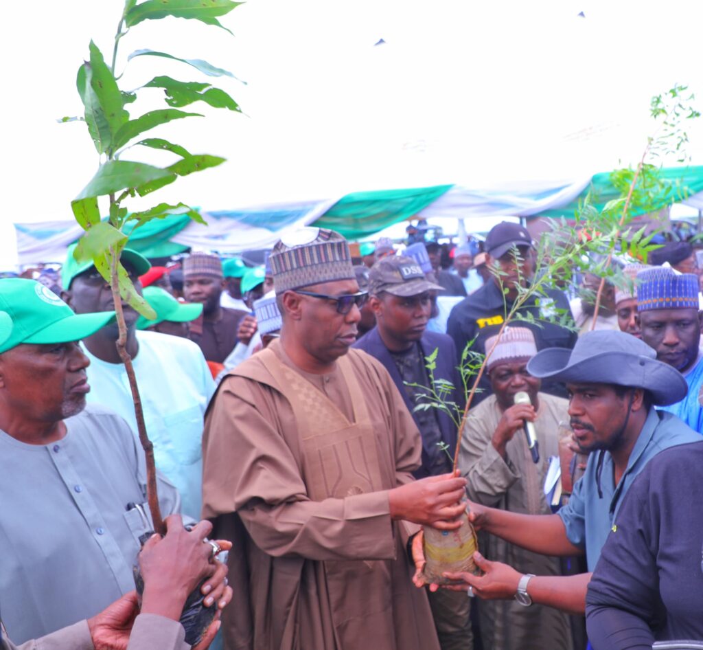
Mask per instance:
[[[276,293],[356,279],[347,240],[324,228],[301,228],[282,237],[273,247],[269,264]]]

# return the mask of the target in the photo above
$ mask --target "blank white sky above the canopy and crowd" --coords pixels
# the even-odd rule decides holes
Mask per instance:
[[[3,249],[11,222],[70,219],[70,200],[96,169],[85,126],[56,118],[81,112],[77,68],[91,38],[109,58],[121,9],[121,0],[4,6],[0,256],[13,255]],[[222,19],[235,37],[175,19],[134,27],[117,67],[148,47],[247,81],[147,57],[124,75],[127,87],[157,74],[214,81],[243,107],[246,116],[195,104],[207,117],[150,132],[228,162],[179,179],[148,205],[219,210],[366,189],[570,179],[636,163],[653,130],[653,94],[687,83],[703,106],[702,18],[702,3],[676,0],[250,0]],[[374,47],[380,38],[386,44]],[[159,107],[160,91],[148,92],[127,106],[133,116]],[[703,164],[700,122],[690,129],[693,164]]]

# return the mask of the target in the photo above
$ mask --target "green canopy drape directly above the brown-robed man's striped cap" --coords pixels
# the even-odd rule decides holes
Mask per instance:
[[[363,238],[414,217],[452,187],[354,192],[343,196],[312,225],[335,230],[347,239]]]

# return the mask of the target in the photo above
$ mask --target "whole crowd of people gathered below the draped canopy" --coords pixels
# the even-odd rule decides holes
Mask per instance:
[[[164,536],[110,284],[73,247],[60,272],[0,279],[3,648],[703,642],[690,244],[527,300],[520,224],[353,250],[314,227],[260,266],[123,250],[155,314],[122,305]],[[466,516],[477,571],[428,584],[423,529]],[[217,613],[191,639],[194,590]]]

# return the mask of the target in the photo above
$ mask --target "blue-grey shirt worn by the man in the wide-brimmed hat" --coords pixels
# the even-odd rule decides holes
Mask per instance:
[[[588,571],[595,569],[595,563],[598,562],[600,551],[617,516],[622,497],[638,473],[662,450],[700,440],[700,435],[676,416],[650,409],[630,454],[627,469],[617,486],[610,452],[591,453],[586,473],[574,485],[569,503],[557,513],[564,522],[569,542],[586,549]],[[603,460],[599,479],[598,457],[601,454]],[[599,481],[602,497],[598,494]]]

